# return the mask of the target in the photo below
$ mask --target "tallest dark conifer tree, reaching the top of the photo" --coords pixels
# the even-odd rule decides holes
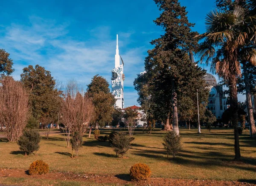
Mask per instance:
[[[172,118],[173,129],[179,134],[177,99],[189,86],[192,87],[192,79],[201,79],[204,76],[204,72],[189,58],[189,53],[192,53],[197,45],[194,39],[197,33],[191,31],[194,24],[189,23],[186,8],[181,6],[178,0],[154,1],[162,12],[154,23],[162,26],[165,33],[151,41],[154,49],[148,51],[148,57],[145,59],[146,74],[143,76],[147,79],[144,81],[147,85],[144,90],[148,90],[148,95],[145,94],[144,99],[148,96],[145,103],[153,102],[154,104],[149,104],[150,107],[157,105],[159,109],[162,108],[166,118],[166,130],[172,129],[169,125]],[[191,73],[197,70],[200,73]],[[134,84],[139,90],[140,98],[143,98],[143,89],[140,89],[143,86],[137,86],[139,78]],[[203,81],[197,85],[201,85],[197,87],[199,90],[205,87]]]

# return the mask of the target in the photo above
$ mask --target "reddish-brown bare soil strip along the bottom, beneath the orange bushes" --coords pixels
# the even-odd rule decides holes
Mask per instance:
[[[149,180],[134,182],[128,174],[121,175],[91,175],[74,174],[72,172],[51,172],[46,175],[28,175],[23,169],[0,169],[0,177],[14,178],[17,183],[22,185],[23,179],[30,180],[63,180],[72,183],[96,183],[110,185],[136,185],[136,186],[256,186],[256,180],[219,181],[219,180],[190,180],[190,179],[171,179],[171,178],[150,178]],[[16,179],[17,178],[17,179]]]

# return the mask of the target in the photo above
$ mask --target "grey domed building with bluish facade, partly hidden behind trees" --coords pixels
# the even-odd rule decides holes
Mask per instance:
[[[217,119],[221,118],[224,110],[228,108],[227,97],[223,93],[223,87],[217,83],[215,77],[212,74],[206,73],[204,79],[211,88],[207,109],[212,111],[213,115],[215,115]]]

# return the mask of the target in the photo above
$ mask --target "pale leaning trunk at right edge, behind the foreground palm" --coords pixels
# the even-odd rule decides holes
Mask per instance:
[[[244,84],[245,84],[245,92],[246,92],[246,100],[247,100],[247,110],[248,110],[248,119],[250,124],[250,137],[256,138],[256,127],[253,118],[253,104],[252,104],[252,96],[250,92],[250,83],[248,79],[248,72],[246,63],[243,63],[244,69]]]

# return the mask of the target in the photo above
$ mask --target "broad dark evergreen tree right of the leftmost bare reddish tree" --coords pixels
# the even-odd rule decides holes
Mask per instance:
[[[33,117],[58,119],[61,104],[61,91],[55,87],[55,80],[44,67],[29,65],[23,68],[20,81],[29,92],[29,104]]]

